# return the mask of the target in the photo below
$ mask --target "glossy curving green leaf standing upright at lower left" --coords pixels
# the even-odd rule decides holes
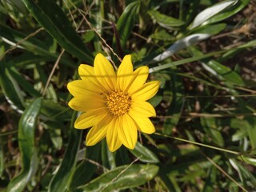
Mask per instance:
[[[37,128],[38,114],[42,98],[37,98],[26,109],[18,123],[18,146],[22,157],[22,171],[10,181],[9,192],[23,191],[38,169],[38,154],[34,143],[34,131]]]

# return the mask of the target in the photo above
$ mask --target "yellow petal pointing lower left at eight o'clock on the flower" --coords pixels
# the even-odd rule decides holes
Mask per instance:
[[[89,110],[86,113],[81,114],[74,122],[74,128],[86,129],[91,126],[95,126],[98,122],[102,121],[107,114],[106,109]]]

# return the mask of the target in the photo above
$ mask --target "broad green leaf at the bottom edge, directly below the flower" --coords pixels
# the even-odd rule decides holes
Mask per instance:
[[[158,166],[131,165],[119,166],[95,178],[85,186],[78,187],[75,191],[112,191],[124,190],[141,186],[150,181],[158,173]]]

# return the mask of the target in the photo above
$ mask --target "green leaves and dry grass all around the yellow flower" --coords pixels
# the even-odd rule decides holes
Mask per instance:
[[[0,187],[6,191],[251,191],[255,13],[249,0],[0,0]],[[67,82],[94,55],[132,54],[162,82],[157,133],[84,146]],[[116,57],[118,55],[118,57]]]

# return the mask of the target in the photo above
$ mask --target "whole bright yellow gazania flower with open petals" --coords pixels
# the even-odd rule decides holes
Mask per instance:
[[[82,111],[74,122],[75,128],[91,127],[86,136],[86,146],[94,146],[106,138],[110,151],[118,150],[122,144],[134,149],[138,131],[154,133],[154,125],[149,118],[156,114],[146,100],[157,93],[160,82],[146,82],[147,66],[134,71],[131,56],[126,55],[115,71],[102,54],[97,54],[94,67],[81,64],[78,73],[81,80],[67,85],[74,96],[68,105]]]

